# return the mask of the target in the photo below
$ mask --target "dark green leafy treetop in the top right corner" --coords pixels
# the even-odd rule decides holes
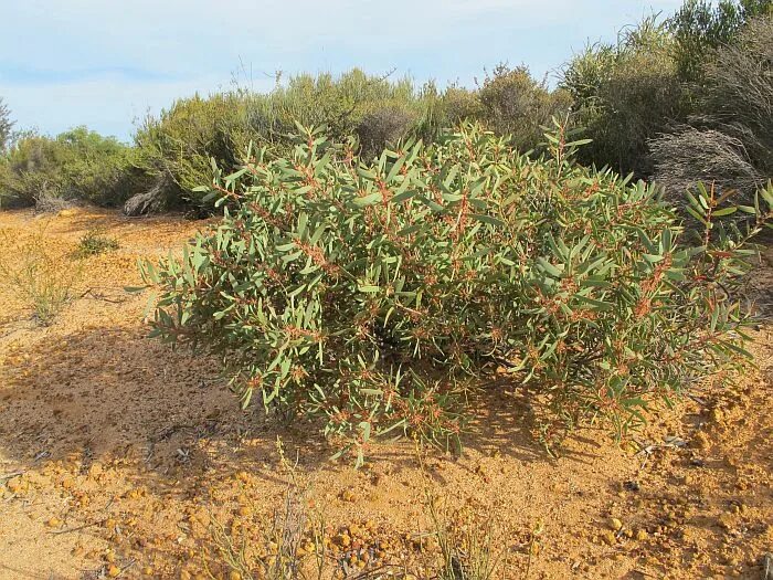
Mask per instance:
[[[719,49],[732,44],[750,19],[773,14],[771,0],[687,0],[668,20],[680,78],[700,82]]]

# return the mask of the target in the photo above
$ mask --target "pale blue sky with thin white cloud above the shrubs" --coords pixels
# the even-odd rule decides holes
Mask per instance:
[[[359,66],[474,86],[498,63],[554,83],[589,42],[680,0],[0,0],[0,97],[17,128],[129,140],[176,98]]]

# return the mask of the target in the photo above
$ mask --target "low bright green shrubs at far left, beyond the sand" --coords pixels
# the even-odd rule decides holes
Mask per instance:
[[[134,188],[133,156],[130,147],[86,127],[55,138],[28,133],[14,140],[6,156],[0,190],[15,204],[52,197],[114,205]]]

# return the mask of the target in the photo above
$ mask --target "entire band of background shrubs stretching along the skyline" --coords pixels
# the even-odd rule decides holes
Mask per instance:
[[[56,200],[126,204],[127,213],[213,210],[197,192],[216,167],[236,168],[250,143],[287,156],[295,124],[325,126],[378,157],[388,144],[435,140],[462,120],[509,136],[521,151],[544,150],[558,117],[592,139],[580,161],[653,178],[679,194],[700,180],[749,198],[771,177],[773,0],[686,0],[610,44],[571,57],[558,86],[525,66],[499,65],[475,88],[352,70],[297,75],[266,94],[194,95],[139,123],[131,145],[84,127],[56,137],[12,133],[0,102],[0,201],[59,207]],[[278,81],[278,80],[277,80]]]

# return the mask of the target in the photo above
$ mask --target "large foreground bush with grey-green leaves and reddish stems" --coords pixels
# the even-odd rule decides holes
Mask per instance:
[[[360,451],[393,430],[455,441],[460,386],[497,366],[555,416],[624,430],[744,352],[727,292],[751,251],[716,224],[686,245],[654,188],[575,165],[566,140],[536,160],[476,127],[373,165],[318,131],[288,159],[255,150],[215,176],[223,220],[145,265],[152,334]]]

